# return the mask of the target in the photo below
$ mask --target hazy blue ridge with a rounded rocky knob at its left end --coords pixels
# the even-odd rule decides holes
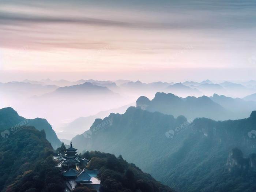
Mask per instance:
[[[151,101],[142,96],[136,104],[143,110],[172,114],[174,117],[184,115],[188,119],[207,117],[224,120],[231,117],[225,108],[206,96],[181,98],[172,93],[156,93]]]

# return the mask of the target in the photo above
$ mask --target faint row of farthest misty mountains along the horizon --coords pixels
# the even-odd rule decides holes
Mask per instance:
[[[91,83],[93,85],[107,87],[108,89],[119,93],[126,97],[127,95],[148,95],[151,97],[152,94],[156,92],[165,92],[165,93],[174,93],[180,97],[187,96],[210,96],[214,93],[219,95],[227,95],[229,97],[240,97],[243,98],[247,95],[256,93],[256,81],[251,80],[249,82],[233,83],[233,82],[222,82],[222,83],[213,83],[210,80],[204,80],[202,82],[193,82],[186,81],[183,83],[167,83],[167,82],[152,82],[152,83],[143,83],[138,81],[132,82],[129,80],[117,80],[112,81],[99,81],[99,80],[83,80],[78,81],[68,81],[68,80],[50,80],[42,79],[40,81],[34,80],[24,80],[23,82],[9,82],[9,83],[0,83],[1,87],[7,87],[8,89],[16,89],[15,84],[19,87],[16,89],[17,93],[34,93],[33,95],[42,95],[45,93],[52,92],[58,87],[72,87],[76,85],[81,85],[84,83]],[[11,84],[13,84],[11,86]],[[27,85],[27,87],[24,87]],[[30,85],[30,86],[29,86]],[[13,88],[12,88],[13,87]],[[33,90],[31,90],[33,89]],[[36,91],[37,90],[37,91]],[[136,92],[138,94],[136,94]],[[31,94],[30,94],[31,96]]]

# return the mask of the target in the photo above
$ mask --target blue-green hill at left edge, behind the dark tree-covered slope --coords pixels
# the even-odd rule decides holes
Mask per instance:
[[[1,134],[2,137],[8,137],[12,134],[12,131],[16,132],[16,130],[19,130],[20,127],[25,125],[34,126],[39,131],[44,129],[46,139],[52,144],[52,147],[60,147],[61,142],[46,119],[26,119],[19,116],[19,114],[12,108],[0,109],[0,131],[4,132],[6,129],[8,130],[6,132],[7,135],[3,135],[5,133]]]

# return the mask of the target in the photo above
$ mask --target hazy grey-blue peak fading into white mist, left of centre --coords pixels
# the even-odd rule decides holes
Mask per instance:
[[[54,127],[57,127],[81,116],[90,116],[103,110],[118,108],[123,106],[123,103],[130,103],[126,101],[126,98],[105,86],[86,82],[59,87],[53,92],[34,97],[30,99],[28,106],[32,108],[36,105],[37,114],[47,118]]]

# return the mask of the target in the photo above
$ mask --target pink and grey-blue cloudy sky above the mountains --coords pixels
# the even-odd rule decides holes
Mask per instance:
[[[255,0],[0,0],[0,81],[250,80]]]

